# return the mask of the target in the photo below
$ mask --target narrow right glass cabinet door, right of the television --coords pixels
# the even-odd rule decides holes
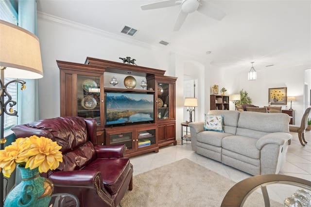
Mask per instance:
[[[157,83],[157,120],[170,118],[169,84]]]

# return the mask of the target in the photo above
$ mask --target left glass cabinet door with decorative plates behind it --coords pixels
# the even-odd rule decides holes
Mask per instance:
[[[77,75],[77,115],[101,123],[100,76]]]

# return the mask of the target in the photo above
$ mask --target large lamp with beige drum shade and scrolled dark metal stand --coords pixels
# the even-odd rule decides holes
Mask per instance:
[[[4,74],[5,73],[5,74]],[[9,22],[0,20],[0,150],[4,149],[4,113],[17,116],[13,106],[17,104],[7,91],[11,83],[24,80],[11,80],[4,84],[5,77],[36,79],[43,77],[39,39],[31,32]],[[7,97],[6,100],[4,97]],[[3,174],[0,173],[0,207],[3,207]]]

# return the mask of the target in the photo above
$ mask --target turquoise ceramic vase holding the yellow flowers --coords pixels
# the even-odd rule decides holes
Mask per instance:
[[[48,207],[53,193],[52,182],[40,176],[39,169],[20,169],[21,183],[5,198],[4,207]]]

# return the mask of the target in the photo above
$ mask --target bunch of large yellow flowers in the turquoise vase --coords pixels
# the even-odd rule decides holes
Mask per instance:
[[[11,145],[0,150],[0,172],[10,177],[16,164],[25,168],[38,168],[39,172],[56,169],[63,162],[62,147],[52,139],[36,135],[17,138]]]

